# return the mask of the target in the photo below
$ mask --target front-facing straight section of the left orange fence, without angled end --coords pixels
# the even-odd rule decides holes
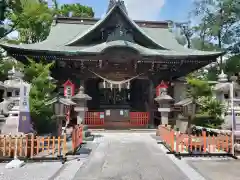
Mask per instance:
[[[63,156],[67,154],[66,135],[40,137],[33,134],[0,137],[0,158],[18,157],[33,158],[36,156]]]

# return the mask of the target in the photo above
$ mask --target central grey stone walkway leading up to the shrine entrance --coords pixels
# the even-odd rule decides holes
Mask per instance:
[[[150,133],[99,133],[99,145],[74,180],[189,180]],[[102,137],[101,137],[102,136]]]

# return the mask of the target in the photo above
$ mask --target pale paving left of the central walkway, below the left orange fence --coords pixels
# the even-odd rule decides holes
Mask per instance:
[[[81,148],[80,155],[68,156],[64,165],[60,162],[30,162],[18,169],[6,169],[6,164],[1,163],[0,180],[71,180],[97,146],[97,142],[89,142]]]

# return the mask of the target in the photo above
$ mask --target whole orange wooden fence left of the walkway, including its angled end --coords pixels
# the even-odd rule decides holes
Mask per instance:
[[[73,128],[72,141],[68,142],[66,134],[58,137],[41,137],[34,134],[2,135],[0,136],[0,160],[1,158],[11,159],[15,155],[22,159],[65,159],[68,153],[74,153],[80,147],[82,138],[82,126]]]

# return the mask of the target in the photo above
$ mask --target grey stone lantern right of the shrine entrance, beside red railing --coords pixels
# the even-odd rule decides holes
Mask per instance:
[[[158,111],[161,112],[161,121],[162,124],[168,124],[168,116],[171,112],[170,102],[173,101],[173,98],[167,94],[167,86],[162,86],[160,93],[154,99],[159,103]]]

